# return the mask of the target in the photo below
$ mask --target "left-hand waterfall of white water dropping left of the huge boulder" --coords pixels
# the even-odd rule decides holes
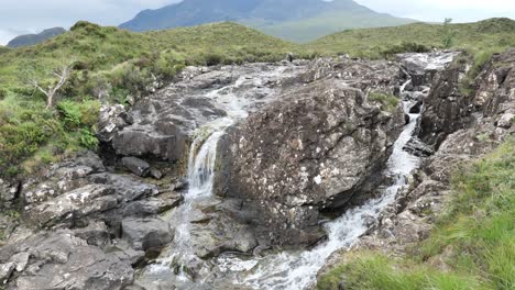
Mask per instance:
[[[196,205],[213,199],[213,171],[217,159],[217,146],[226,130],[238,120],[248,116],[252,105],[256,102],[239,93],[241,88],[260,90],[261,93],[272,94],[272,89],[263,86],[266,81],[278,79],[286,67],[276,67],[270,71],[259,71],[256,75],[240,76],[233,85],[207,91],[205,98],[223,110],[227,116],[212,120],[197,129],[188,156],[187,181],[188,190],[184,194],[184,204],[173,210],[167,216],[172,227],[175,228],[173,244],[163,253],[155,264],[150,265],[139,277],[139,281],[147,289],[167,289],[172,286],[196,289],[184,271],[183,266],[202,263],[191,247],[191,221],[197,217]],[[252,97],[252,93],[250,93]],[[266,101],[266,97],[261,101]],[[174,268],[179,270],[174,274]],[[165,288],[163,288],[165,287]],[[183,287],[183,288],[180,288]]]

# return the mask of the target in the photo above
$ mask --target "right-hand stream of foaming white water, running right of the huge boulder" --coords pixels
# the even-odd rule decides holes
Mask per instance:
[[[403,90],[407,82],[403,86]],[[407,111],[408,102],[404,103]],[[418,114],[410,114],[410,122],[405,126],[394,144],[393,153],[387,161],[385,175],[394,178],[394,183],[386,188],[382,196],[369,200],[365,204],[348,210],[339,219],[327,223],[328,241],[307,252],[284,252],[261,259],[241,259],[222,256],[219,267],[222,271],[240,271],[235,283],[253,289],[308,289],[316,282],[318,270],[327,258],[339,249],[349,249],[366,231],[366,221],[377,219],[381,211],[394,203],[395,194],[406,186],[406,177],[419,165],[415,157],[403,147],[412,138],[416,129]],[[250,275],[246,275],[250,272]]]

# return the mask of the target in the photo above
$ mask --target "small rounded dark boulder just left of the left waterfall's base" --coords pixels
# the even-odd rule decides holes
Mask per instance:
[[[134,249],[156,250],[172,242],[169,224],[161,219],[124,219],[122,238]]]

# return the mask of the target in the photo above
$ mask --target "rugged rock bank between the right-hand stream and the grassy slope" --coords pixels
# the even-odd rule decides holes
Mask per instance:
[[[445,76],[453,76],[456,79],[459,70],[457,69],[454,65],[450,66],[448,71],[439,72],[440,76],[435,78],[434,91],[427,102],[443,105],[450,98],[456,97],[456,89],[449,89],[456,86],[456,82],[449,82],[449,78]],[[458,127],[450,126],[446,131],[420,132],[423,140],[438,140],[437,152],[424,161],[410,187],[397,193],[395,204],[381,213],[377,223],[354,248],[405,255],[406,248],[413,247],[429,235],[435,217],[445,211],[445,201],[453,193],[450,185],[453,170],[492,152],[515,135],[515,120],[509,119],[515,110],[514,88],[515,49],[512,49],[494,55],[475,79],[475,93],[468,98],[461,97],[459,102],[468,111],[464,119],[462,110],[448,110],[440,116],[435,114],[436,107],[425,110],[428,123],[456,124],[460,120],[467,122],[462,122]],[[457,109],[458,103],[453,103],[452,107]],[[328,265],[339,265],[344,261],[347,252],[335,254]]]

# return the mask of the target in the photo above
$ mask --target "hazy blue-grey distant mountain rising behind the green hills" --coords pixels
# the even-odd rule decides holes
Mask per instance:
[[[221,21],[239,22],[294,42],[308,42],[348,29],[414,22],[377,13],[352,0],[184,0],[144,10],[120,27],[142,32]]]

